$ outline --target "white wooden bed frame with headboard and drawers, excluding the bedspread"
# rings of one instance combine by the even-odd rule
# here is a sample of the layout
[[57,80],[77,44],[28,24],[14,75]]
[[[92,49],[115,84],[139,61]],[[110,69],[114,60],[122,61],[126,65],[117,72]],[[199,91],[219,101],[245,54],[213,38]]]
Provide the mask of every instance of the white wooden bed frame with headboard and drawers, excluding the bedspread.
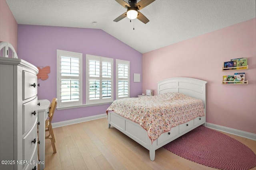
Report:
[[197,98],[204,103],[204,116],[196,117],[186,123],[172,127],[170,131],[162,133],[153,143],[148,133],[138,123],[127,119],[114,111],[108,111],[108,128],[112,125],[143,147],[149,150],[150,160],[155,159],[156,149],[177,139],[192,129],[206,122],[206,81],[195,78],[168,78],[158,82],[158,94],[166,92],[178,92],[187,96]]

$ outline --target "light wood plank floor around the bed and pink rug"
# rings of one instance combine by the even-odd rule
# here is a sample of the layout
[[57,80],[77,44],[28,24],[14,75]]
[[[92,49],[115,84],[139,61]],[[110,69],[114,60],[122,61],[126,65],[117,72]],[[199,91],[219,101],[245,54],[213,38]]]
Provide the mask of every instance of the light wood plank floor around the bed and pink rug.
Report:
[[[256,153],[256,141],[230,135]],[[47,135],[47,134],[46,134]],[[166,149],[149,151],[115,129],[106,118],[54,128],[57,153],[46,140],[45,170],[213,170]],[[256,167],[253,168],[256,170]]]

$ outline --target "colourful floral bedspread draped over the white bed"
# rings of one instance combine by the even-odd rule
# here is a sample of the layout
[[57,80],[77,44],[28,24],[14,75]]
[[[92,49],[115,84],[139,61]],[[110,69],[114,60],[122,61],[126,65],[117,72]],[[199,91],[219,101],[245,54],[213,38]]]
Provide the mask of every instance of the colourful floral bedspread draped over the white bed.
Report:
[[153,142],[162,133],[198,116],[204,116],[202,100],[181,93],[167,92],[144,98],[115,100],[106,110],[139,123]]

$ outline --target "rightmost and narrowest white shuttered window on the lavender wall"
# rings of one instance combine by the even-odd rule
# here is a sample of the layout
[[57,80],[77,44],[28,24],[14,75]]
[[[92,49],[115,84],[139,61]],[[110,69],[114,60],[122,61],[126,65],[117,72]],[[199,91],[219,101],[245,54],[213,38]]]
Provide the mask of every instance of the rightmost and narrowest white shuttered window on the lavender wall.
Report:
[[130,97],[130,61],[116,59],[116,100]]

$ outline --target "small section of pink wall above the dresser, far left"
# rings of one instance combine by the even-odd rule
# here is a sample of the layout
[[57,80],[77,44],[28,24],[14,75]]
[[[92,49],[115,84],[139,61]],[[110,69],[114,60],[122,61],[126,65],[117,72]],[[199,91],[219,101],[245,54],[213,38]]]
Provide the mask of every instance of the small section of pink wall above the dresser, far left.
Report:
[[[5,0],[0,0],[0,41],[12,44],[17,52],[18,24]],[[18,53],[18,52],[17,52]]]

